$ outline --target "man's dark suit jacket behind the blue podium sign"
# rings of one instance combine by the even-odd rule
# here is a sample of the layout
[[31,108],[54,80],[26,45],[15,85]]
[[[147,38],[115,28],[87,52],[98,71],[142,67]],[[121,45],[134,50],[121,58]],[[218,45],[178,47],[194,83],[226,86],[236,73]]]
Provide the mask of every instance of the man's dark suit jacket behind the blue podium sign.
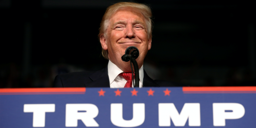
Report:
[[[144,70],[143,87],[186,86],[183,84],[153,80]],[[73,72],[57,75],[53,87],[110,87],[108,68],[99,71]]]

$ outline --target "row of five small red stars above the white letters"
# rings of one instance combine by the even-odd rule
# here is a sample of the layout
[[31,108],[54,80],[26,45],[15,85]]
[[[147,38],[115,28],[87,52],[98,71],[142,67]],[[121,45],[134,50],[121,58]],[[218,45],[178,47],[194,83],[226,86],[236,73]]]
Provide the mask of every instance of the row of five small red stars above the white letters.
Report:
[[[99,96],[104,96],[104,93],[106,91],[104,91],[103,89],[100,89],[100,91],[98,91]],[[119,89],[117,89],[116,91],[114,91],[116,93],[116,96],[121,96],[122,91],[120,91]],[[135,88],[131,91],[131,96],[137,96],[137,93],[139,91],[137,91]],[[148,92],[148,96],[154,96],[154,90],[152,90],[151,88],[147,91]],[[170,96],[171,90],[168,90],[168,88],[166,88],[166,90],[163,91],[164,92],[164,96]]]

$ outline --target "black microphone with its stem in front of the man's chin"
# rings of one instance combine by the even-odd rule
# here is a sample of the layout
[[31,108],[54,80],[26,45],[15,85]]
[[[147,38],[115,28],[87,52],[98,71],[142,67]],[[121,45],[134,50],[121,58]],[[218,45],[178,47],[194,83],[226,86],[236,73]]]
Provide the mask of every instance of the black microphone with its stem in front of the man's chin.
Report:
[[[128,62],[130,61],[131,65],[131,72],[132,72],[132,81],[133,81],[133,71],[132,71],[132,64],[134,65],[134,70],[135,70],[135,84],[134,87],[139,87],[139,67],[137,64],[137,61],[135,60],[136,58],[139,57],[139,50],[135,46],[129,46],[125,50],[125,54],[121,57],[122,61]],[[132,64],[131,64],[132,63]]]

